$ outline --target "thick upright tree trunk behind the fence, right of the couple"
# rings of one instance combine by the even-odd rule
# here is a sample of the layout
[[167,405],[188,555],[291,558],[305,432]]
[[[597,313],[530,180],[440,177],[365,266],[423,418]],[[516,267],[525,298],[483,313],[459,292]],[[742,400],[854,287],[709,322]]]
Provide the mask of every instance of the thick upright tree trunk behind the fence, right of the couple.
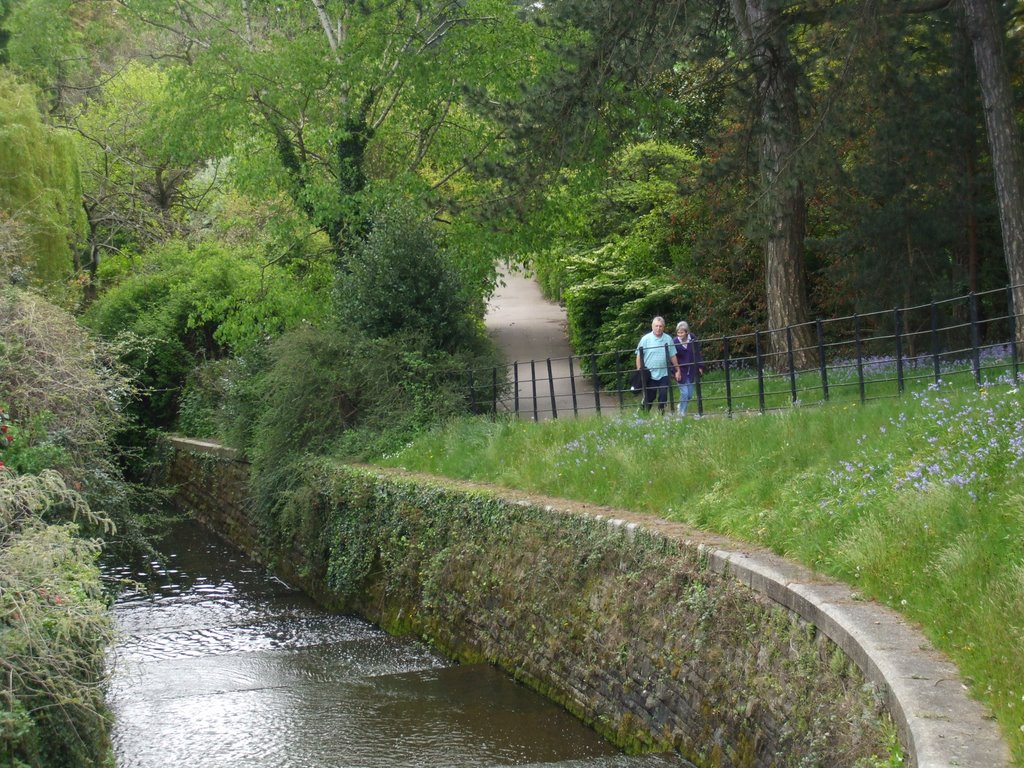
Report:
[[807,225],[803,185],[794,169],[800,141],[796,62],[786,25],[772,0],[732,0],[732,12],[757,79],[758,163],[765,217],[765,291],[772,331],[772,367],[787,360],[786,328],[793,329],[797,368],[815,365],[815,341],[808,323],[804,237]]

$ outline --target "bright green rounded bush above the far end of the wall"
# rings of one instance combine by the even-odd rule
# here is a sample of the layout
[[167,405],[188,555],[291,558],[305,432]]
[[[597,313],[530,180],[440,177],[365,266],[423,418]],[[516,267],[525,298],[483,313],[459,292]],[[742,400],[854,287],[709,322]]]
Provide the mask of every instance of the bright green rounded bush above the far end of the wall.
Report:
[[[325,310],[321,270],[266,265],[249,249],[216,241],[168,242],[145,254],[89,308],[84,321],[102,337],[130,340],[124,362],[135,372],[140,424],[175,425],[182,388],[197,366],[245,353]],[[301,273],[300,273],[301,272]],[[204,403],[194,387],[193,413]]]

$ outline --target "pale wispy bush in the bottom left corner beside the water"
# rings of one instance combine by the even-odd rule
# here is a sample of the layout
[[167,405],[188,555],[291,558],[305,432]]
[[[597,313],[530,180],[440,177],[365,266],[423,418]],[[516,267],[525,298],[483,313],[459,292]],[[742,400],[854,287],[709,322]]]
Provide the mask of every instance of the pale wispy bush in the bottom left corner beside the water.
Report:
[[56,472],[0,469],[0,762],[105,765],[99,547],[74,524],[44,523],[54,512],[103,522]]

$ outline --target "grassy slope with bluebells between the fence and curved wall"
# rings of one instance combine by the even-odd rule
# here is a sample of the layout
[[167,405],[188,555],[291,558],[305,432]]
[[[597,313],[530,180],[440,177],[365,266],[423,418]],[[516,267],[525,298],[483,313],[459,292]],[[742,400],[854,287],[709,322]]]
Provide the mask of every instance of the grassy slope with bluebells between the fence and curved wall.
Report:
[[1024,395],[680,420],[466,419],[381,463],[624,507],[768,547],[920,623],[1024,766]]

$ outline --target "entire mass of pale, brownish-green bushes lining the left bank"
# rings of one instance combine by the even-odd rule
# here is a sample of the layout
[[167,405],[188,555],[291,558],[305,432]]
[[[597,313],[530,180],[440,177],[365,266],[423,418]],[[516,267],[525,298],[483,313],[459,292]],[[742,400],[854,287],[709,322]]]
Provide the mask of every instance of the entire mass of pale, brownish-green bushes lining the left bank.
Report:
[[129,391],[114,351],[70,314],[0,292],[2,765],[110,763],[96,557],[138,535],[111,444]]

